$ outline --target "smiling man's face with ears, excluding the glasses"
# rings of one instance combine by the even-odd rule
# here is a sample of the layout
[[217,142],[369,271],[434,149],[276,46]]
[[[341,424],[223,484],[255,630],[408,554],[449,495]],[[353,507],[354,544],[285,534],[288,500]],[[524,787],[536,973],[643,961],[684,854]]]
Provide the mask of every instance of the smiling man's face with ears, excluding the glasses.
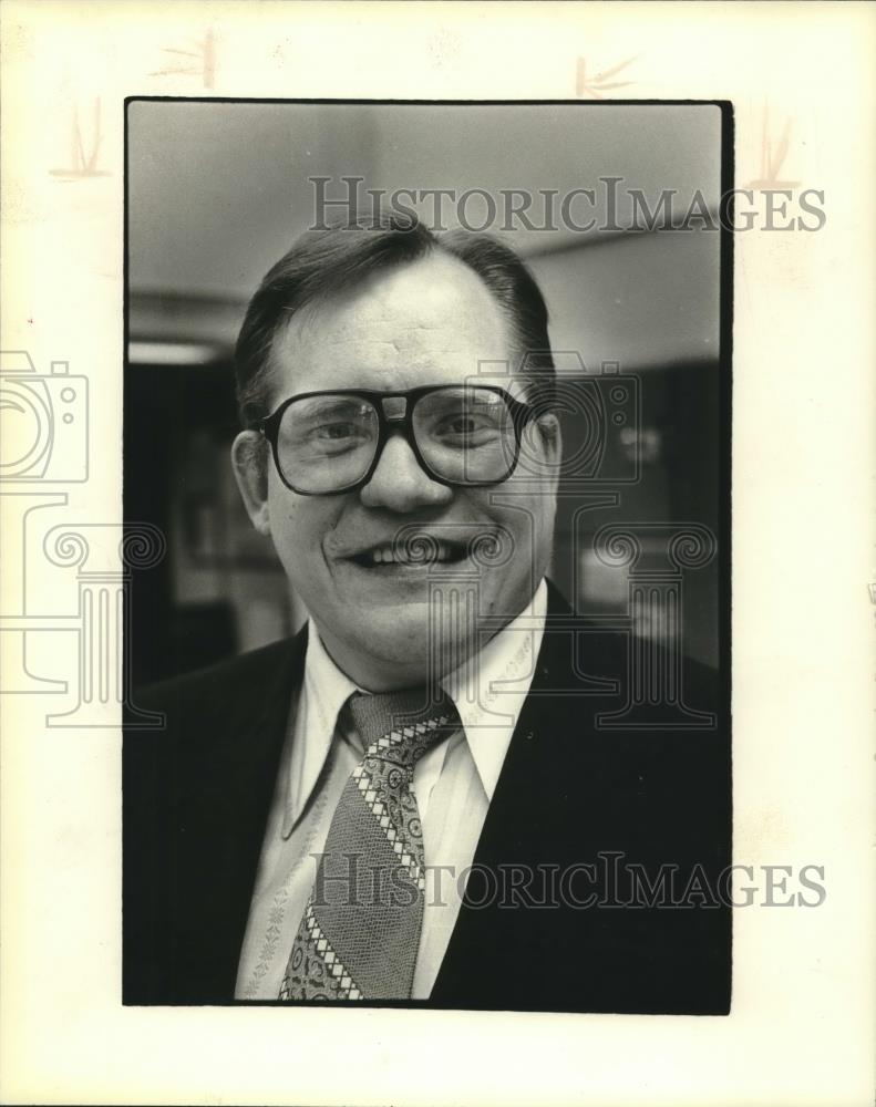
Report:
[[[298,312],[275,339],[271,410],[312,391],[473,383],[478,361],[511,363],[511,358],[509,323],[486,286],[455,258],[434,254]],[[523,399],[519,384],[507,376],[488,383]],[[272,461],[265,484],[246,448],[251,435],[245,432],[235,444],[250,517],[271,535],[336,663],[370,691],[442,675],[431,666],[453,668],[480,649],[485,639],[474,634],[474,624],[485,617],[513,619],[544,576],[558,434],[546,438],[530,425],[526,464],[502,484],[482,488],[433,480],[404,437],[393,434],[369,483],[333,496],[291,492]],[[533,480],[534,462],[546,463],[539,480]],[[373,551],[390,549],[400,532],[409,546],[419,532],[456,544],[483,536],[488,545],[495,538],[501,554],[493,566],[488,558],[471,556],[429,565],[391,561],[379,552],[375,560]],[[465,604],[454,596],[471,596],[473,589],[472,618],[457,618],[451,604],[463,611]],[[443,604],[440,619],[436,602]],[[436,656],[446,660],[436,662]]]

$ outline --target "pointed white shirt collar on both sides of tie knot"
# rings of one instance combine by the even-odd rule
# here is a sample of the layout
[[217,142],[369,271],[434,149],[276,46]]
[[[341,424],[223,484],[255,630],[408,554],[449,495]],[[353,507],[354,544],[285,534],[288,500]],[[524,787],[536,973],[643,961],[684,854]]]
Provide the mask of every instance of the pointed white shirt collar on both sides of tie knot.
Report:
[[[486,793],[493,792],[505,761],[512,734],[535,674],[547,612],[547,586],[543,580],[524,610],[487,642],[483,650],[441,681],[453,700],[463,724],[472,759]],[[299,717],[298,741],[289,763],[285,832],[291,830],[319,780],[326,764],[341,708],[353,692],[361,692],[341,672],[326,651],[310,620]],[[357,735],[344,734],[361,752]],[[445,744],[446,751],[446,744]],[[442,761],[443,764],[443,761]],[[440,772],[440,767],[439,767]]]

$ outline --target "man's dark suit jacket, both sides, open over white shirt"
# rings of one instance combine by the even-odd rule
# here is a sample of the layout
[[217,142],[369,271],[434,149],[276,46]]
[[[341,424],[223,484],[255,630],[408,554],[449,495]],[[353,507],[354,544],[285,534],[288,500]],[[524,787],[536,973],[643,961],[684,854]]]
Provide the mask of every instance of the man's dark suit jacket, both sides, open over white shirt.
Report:
[[[632,723],[607,718],[629,700],[633,642],[577,622],[550,589],[472,902],[429,1006],[729,1011],[726,697],[711,670],[688,661],[684,702],[714,713],[713,725],[691,728],[703,720],[671,705],[652,708],[647,728],[632,725],[642,723],[635,713]],[[125,1003],[234,1000],[305,644],[302,633],[168,682],[140,704],[165,712],[167,727],[125,735]]]

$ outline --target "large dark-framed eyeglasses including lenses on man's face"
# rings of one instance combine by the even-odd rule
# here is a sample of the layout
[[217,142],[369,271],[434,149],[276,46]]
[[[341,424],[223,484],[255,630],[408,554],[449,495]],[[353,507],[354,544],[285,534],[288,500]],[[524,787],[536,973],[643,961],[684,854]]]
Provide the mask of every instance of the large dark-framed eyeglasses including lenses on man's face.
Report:
[[302,496],[361,488],[390,435],[402,434],[440,484],[498,484],[514,472],[524,426],[535,417],[493,385],[436,385],[406,392],[307,392],[256,424],[282,483]]

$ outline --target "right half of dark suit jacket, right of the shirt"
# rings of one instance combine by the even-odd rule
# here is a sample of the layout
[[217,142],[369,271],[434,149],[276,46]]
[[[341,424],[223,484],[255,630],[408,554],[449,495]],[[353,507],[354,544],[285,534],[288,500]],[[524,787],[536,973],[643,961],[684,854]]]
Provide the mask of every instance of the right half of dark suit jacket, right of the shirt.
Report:
[[[611,858],[652,880],[677,870],[678,892],[695,866],[720,887],[731,861],[726,721],[699,732],[598,725],[599,713],[626,699],[627,642],[576,625],[555,592],[548,615],[431,1003],[725,1013],[726,906],[633,902],[629,871],[612,869]],[[708,673],[688,672],[692,702],[713,708]],[[527,890],[515,890],[513,870]]]

